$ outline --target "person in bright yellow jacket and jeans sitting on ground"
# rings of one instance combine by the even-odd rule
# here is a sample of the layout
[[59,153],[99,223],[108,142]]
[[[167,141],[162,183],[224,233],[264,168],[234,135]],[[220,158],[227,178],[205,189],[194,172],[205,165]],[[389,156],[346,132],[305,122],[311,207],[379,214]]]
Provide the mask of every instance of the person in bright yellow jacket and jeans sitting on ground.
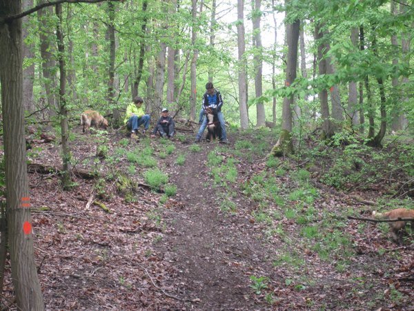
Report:
[[144,124],[143,134],[146,133],[150,126],[150,115],[144,113],[144,100],[137,96],[134,101],[126,107],[126,117],[124,123],[128,130],[131,131],[131,138],[137,138],[138,128]]

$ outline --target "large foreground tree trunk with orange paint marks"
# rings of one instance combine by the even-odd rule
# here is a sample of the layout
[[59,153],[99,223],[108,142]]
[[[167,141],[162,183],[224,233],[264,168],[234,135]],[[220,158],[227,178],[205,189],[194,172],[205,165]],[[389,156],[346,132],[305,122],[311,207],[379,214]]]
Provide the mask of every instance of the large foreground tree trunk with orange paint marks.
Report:
[[[0,18],[19,12],[20,0],[0,0]],[[12,283],[19,309],[44,310],[34,263],[32,218],[28,208],[22,44],[21,19],[0,23],[1,106]]]

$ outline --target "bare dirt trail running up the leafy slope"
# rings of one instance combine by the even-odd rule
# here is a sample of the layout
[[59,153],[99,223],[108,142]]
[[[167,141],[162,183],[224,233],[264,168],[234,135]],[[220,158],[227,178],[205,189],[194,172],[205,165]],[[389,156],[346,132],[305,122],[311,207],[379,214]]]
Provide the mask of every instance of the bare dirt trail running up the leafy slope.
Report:
[[[168,234],[162,243],[164,259],[178,271],[177,283],[187,308],[197,310],[264,310],[249,287],[255,266],[268,265],[248,219],[220,211],[206,167],[215,144],[189,152],[181,171],[172,176],[181,209],[166,211]],[[176,277],[177,277],[176,276]]]

